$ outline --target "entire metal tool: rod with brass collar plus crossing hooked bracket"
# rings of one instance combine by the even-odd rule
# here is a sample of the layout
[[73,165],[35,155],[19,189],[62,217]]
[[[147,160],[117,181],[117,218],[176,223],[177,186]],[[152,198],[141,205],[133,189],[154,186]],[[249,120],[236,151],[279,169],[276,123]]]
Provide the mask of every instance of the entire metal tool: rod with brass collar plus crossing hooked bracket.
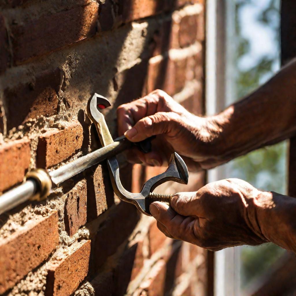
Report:
[[110,102],[98,94],[94,94],[88,104],[89,117],[95,123],[103,147],[66,165],[62,165],[56,170],[41,168],[30,170],[22,184],[0,196],[0,215],[27,200],[41,201],[46,199],[52,192],[52,186],[66,181],[105,159],[108,160],[113,189],[119,198],[133,203],[146,215],[149,215],[149,204],[153,201],[170,204],[171,195],[154,194],[152,191],[165,181],[173,180],[186,184],[188,182],[188,170],[184,161],[177,153],[174,153],[165,173],[148,180],[140,193],[128,192],[120,182],[119,167],[115,155],[131,148],[133,145],[138,147],[140,151],[147,153],[151,150],[151,138],[132,143],[123,136],[113,141],[104,116],[100,112],[100,110],[109,106],[111,106]]

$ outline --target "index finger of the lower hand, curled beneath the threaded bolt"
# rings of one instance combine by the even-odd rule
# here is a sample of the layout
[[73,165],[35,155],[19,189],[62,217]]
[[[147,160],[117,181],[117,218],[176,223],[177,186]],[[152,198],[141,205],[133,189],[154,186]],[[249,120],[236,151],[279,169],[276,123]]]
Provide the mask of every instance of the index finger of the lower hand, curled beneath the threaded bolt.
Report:
[[195,218],[178,215],[171,207],[162,202],[153,202],[149,209],[153,217],[165,226],[172,237],[187,242],[196,240],[194,236]]

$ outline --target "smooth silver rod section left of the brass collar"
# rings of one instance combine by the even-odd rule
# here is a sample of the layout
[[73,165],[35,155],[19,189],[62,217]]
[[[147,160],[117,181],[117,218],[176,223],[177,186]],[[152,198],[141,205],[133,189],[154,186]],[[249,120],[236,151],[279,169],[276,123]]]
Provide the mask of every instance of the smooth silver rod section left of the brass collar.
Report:
[[30,199],[37,190],[36,181],[30,179],[0,196],[0,215]]

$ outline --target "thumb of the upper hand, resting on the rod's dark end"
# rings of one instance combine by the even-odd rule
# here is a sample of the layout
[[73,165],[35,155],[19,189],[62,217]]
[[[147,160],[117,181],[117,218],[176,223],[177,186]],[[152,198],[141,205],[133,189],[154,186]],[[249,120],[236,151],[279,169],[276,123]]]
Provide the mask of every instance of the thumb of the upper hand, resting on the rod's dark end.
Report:
[[169,126],[175,121],[173,112],[157,112],[140,119],[133,128],[125,132],[125,136],[132,142],[143,141],[151,136],[166,134]]

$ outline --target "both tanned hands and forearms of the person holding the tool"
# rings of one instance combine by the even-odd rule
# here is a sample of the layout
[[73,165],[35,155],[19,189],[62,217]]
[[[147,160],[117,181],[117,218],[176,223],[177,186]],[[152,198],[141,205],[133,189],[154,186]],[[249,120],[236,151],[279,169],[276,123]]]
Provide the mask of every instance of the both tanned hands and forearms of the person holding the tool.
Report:
[[[165,165],[178,152],[189,170],[209,169],[296,134],[296,59],[218,115],[189,113],[157,90],[118,107],[118,131],[133,142],[156,135],[152,152],[130,151],[133,163]],[[296,199],[226,179],[177,193],[171,207],[150,212],[168,237],[209,250],[273,242],[296,252]]]

